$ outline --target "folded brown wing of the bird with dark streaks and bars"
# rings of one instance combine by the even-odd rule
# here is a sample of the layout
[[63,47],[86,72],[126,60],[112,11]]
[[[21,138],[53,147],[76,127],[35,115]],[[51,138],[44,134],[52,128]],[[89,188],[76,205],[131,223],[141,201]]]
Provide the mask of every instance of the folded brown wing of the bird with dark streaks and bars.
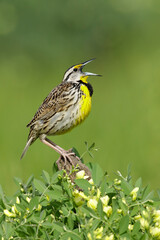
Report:
[[71,82],[64,82],[54,88],[44,99],[43,103],[38,108],[33,119],[28,123],[27,127],[32,126],[37,120],[47,120],[54,113],[63,111],[67,104],[66,98],[64,98],[64,93],[69,93],[72,87],[73,84]]

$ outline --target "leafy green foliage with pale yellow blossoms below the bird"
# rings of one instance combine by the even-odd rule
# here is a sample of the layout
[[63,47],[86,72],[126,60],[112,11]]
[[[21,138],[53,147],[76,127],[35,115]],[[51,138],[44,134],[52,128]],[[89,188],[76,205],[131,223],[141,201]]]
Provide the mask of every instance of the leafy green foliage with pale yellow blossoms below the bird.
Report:
[[[89,163],[93,179],[65,171],[42,171],[41,180],[15,178],[19,190],[7,197],[0,187],[1,239],[160,239],[160,197],[139,178],[118,172],[111,181]],[[74,170],[75,171],[75,170]]]

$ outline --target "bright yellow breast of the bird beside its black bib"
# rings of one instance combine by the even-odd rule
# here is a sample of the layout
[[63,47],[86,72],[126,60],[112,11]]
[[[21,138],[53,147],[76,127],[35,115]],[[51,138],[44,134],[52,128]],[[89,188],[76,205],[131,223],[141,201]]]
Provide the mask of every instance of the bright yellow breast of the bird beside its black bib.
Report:
[[81,86],[81,90],[83,95],[81,96],[80,100],[80,115],[78,119],[79,123],[82,122],[91,111],[91,96],[89,90],[85,85]]

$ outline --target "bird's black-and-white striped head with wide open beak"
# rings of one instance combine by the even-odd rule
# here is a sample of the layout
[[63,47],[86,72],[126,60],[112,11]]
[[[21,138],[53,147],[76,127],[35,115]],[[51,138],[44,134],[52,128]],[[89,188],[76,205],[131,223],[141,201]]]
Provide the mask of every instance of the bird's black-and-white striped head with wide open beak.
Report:
[[83,67],[93,61],[94,59],[91,59],[91,60],[88,60],[84,63],[80,63],[80,64],[77,64],[77,65],[74,65],[72,67],[70,67],[64,74],[64,77],[63,77],[63,82],[79,82],[79,81],[82,81],[84,83],[87,83],[87,78],[88,76],[101,76],[99,74],[96,74],[96,73],[90,73],[90,72],[83,72]]

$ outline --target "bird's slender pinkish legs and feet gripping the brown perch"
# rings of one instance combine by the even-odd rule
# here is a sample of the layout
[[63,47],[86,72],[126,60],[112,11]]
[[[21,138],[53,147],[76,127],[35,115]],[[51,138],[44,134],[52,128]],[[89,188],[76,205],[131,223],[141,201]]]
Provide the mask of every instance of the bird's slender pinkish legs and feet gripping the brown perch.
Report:
[[70,153],[64,150],[63,148],[59,147],[57,144],[53,143],[50,139],[48,138],[40,138],[41,142],[46,144],[47,146],[51,147],[54,149],[56,152],[58,152],[60,155],[63,156],[65,165],[67,165],[67,159],[70,162],[71,165],[73,164],[72,158],[70,156],[75,156],[75,153]]

